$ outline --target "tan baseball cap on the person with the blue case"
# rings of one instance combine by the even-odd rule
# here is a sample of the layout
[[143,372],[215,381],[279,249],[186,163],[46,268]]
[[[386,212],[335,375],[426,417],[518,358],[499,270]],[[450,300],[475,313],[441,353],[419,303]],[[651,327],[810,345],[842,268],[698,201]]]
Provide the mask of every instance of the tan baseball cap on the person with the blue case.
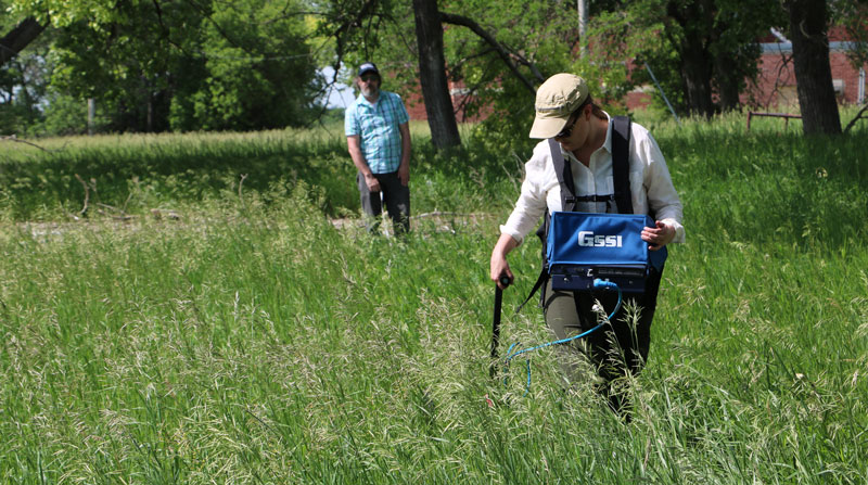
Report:
[[588,84],[574,74],[556,74],[536,91],[536,118],[531,138],[553,138],[588,98]]

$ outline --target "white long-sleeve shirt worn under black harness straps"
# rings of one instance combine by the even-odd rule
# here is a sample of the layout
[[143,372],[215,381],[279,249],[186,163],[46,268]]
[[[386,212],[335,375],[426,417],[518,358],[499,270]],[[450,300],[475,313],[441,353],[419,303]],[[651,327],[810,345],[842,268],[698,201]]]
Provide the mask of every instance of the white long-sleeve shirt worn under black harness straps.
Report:
[[[672,183],[663,153],[648,129],[636,123],[631,123],[630,126],[629,179],[633,212],[649,214],[650,209],[653,209],[658,220],[675,228],[675,238],[672,242],[684,242],[681,201]],[[605,196],[615,192],[612,176],[611,117],[605,142],[591,154],[587,167],[578,162],[571,152],[563,151],[563,148],[561,148],[561,153],[563,153],[564,161],[570,163],[577,197],[583,195]],[[507,222],[500,226],[500,232],[510,234],[521,244],[524,237],[537,226],[546,207],[549,212],[562,209],[561,187],[558,183],[558,175],[554,173],[549,143],[548,140],[542,140],[534,148],[533,156],[525,164],[521,195]],[[587,213],[618,212],[614,201],[576,202],[575,209]]]

